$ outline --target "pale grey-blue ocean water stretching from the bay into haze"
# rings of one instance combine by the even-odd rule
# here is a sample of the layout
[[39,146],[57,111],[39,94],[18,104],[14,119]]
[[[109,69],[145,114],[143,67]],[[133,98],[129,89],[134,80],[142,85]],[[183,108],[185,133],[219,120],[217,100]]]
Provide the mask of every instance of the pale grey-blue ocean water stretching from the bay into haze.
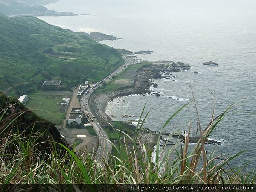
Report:
[[[39,17],[47,23],[78,32],[102,32],[122,38],[103,41],[115,48],[133,52],[152,50],[139,58],[181,61],[191,65],[189,72],[175,73],[174,79],[157,80],[162,92],[156,96],[127,96],[109,102],[108,114],[117,120],[135,120],[147,102],[151,110],[145,127],[159,131],[165,121],[192,100],[192,91],[204,128],[211,120],[214,97],[216,115],[233,102],[236,112],[227,114],[212,133],[220,146],[208,145],[217,153],[246,153],[232,165],[250,163],[256,167],[256,2],[254,0],[61,0],[46,6],[56,11],[88,13],[89,16]],[[218,66],[204,66],[213,61]],[[195,74],[198,71],[200,74]],[[211,93],[212,92],[212,93]],[[172,98],[170,98],[172,97]],[[177,98],[179,98],[177,100]],[[254,114],[253,114],[254,113]],[[120,115],[134,115],[122,118]],[[165,131],[186,131],[197,116],[192,103],[181,111]]]

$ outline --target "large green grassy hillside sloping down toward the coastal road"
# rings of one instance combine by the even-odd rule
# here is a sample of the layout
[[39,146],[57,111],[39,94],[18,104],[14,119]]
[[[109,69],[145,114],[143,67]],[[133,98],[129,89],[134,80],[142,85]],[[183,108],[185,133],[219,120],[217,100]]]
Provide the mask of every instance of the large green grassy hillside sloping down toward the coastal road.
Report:
[[0,15],[0,90],[35,92],[44,79],[61,79],[62,88],[97,81],[124,63],[112,47],[86,34],[52,26],[35,17]]

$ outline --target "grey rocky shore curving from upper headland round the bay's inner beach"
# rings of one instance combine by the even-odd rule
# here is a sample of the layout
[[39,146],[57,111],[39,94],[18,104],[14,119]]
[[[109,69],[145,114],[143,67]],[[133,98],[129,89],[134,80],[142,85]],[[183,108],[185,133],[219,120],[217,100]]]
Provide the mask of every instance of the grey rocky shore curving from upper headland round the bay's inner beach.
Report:
[[154,79],[166,78],[165,74],[171,77],[172,72],[181,72],[183,70],[190,70],[190,66],[182,62],[153,61],[150,65],[145,65],[140,70],[137,70],[132,86],[90,96],[89,103],[93,113],[98,116],[102,122],[111,121],[111,117],[105,113],[108,102],[118,97],[129,95],[145,96],[147,94],[154,94],[157,96],[159,93],[150,90],[150,87],[157,86],[154,83]]

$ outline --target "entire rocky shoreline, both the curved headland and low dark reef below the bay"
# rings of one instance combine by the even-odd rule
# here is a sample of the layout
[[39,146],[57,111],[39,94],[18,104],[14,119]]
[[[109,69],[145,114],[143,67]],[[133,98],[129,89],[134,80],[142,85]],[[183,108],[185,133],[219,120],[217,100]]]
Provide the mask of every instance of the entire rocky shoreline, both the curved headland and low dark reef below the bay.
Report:
[[[173,76],[172,72],[181,72],[183,70],[190,70],[190,66],[188,64],[182,62],[174,62],[174,61],[154,61],[150,65],[143,66],[140,70],[136,71],[136,75],[134,77],[134,84],[128,87],[122,87],[116,91],[111,92],[102,92],[99,94],[93,94],[90,96],[90,105],[93,110],[95,116],[99,118],[101,122],[105,121],[112,121],[111,117],[115,118],[114,116],[108,116],[105,110],[108,105],[108,102],[122,96],[129,96],[129,95],[155,95],[160,96],[161,93],[153,92],[150,90],[150,87],[157,87],[158,85],[154,83],[154,79],[159,78],[175,78],[177,76]],[[178,98],[177,98],[178,99]],[[120,114],[122,118],[129,118],[133,117],[132,115],[128,114]],[[127,124],[132,124],[137,121],[124,121]],[[148,128],[143,128],[143,133],[140,134],[140,137],[144,137],[146,135],[147,140],[150,140],[151,143],[156,144],[160,133],[158,131],[152,131]],[[161,133],[161,139],[163,137],[169,136],[171,133],[163,132]],[[156,140],[155,140],[156,139]],[[192,137],[189,138],[189,143],[197,143],[200,140],[199,137]],[[166,143],[167,142],[167,143]],[[180,140],[182,142],[182,138]],[[175,142],[172,141],[164,141],[161,145],[174,145]],[[215,140],[207,140],[205,144],[209,145],[219,145],[221,142]]]

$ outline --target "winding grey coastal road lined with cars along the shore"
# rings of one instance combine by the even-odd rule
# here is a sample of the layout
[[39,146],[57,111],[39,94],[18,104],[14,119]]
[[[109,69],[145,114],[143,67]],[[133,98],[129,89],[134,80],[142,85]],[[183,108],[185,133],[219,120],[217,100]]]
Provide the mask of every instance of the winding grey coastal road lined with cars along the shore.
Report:
[[[124,70],[125,66],[131,65],[134,63],[133,60],[129,57],[123,56],[123,58],[125,59],[125,64],[123,64],[118,69],[116,69],[107,78],[102,79],[103,81],[105,81],[106,83],[109,83],[111,81],[113,75],[116,75],[116,73],[118,74],[118,73],[122,72],[122,70]],[[90,85],[90,87],[92,87],[92,85]],[[99,84],[99,86],[95,87],[95,89],[91,89],[87,95],[83,94],[80,98],[80,105],[81,105],[81,108],[82,108],[84,114],[86,114],[86,116],[90,115],[91,118],[93,118],[93,116],[95,116],[95,115],[93,114],[93,111],[90,109],[90,105],[88,104],[89,98],[92,95],[93,91],[95,91],[99,87],[102,87],[102,83]],[[86,107],[86,109],[84,108],[84,106]],[[97,162],[102,163],[102,166],[104,166],[102,160],[104,159],[105,161],[108,161],[108,158],[109,158],[108,154],[111,154],[112,145],[109,142],[108,134],[105,133],[104,129],[102,128],[102,125],[100,125],[99,119],[97,118],[97,116],[95,116],[93,118],[93,120],[91,120],[90,117],[89,118],[87,117],[87,119],[90,122],[90,124],[92,125],[92,127],[93,127],[94,131],[96,132],[96,134],[98,135],[98,139],[99,139],[99,147],[98,147],[98,151],[96,152],[95,160]]]

